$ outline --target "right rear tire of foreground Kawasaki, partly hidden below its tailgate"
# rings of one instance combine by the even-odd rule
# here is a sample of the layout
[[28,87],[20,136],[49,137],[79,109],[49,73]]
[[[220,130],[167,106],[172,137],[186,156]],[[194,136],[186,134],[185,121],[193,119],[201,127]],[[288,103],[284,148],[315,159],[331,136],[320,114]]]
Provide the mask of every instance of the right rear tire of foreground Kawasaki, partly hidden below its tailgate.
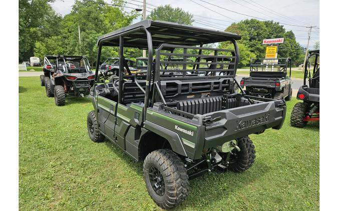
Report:
[[244,136],[237,139],[237,146],[240,151],[236,149],[231,151],[229,170],[242,172],[251,167],[255,161],[255,145],[248,136]]

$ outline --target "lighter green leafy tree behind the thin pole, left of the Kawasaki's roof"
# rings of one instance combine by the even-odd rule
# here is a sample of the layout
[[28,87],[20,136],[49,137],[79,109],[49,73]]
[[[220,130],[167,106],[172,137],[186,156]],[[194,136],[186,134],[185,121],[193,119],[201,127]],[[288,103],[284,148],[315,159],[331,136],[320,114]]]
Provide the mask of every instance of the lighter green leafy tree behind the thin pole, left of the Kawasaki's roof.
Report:
[[[118,5],[122,3],[118,0],[113,2]],[[39,56],[43,54],[86,55],[93,65],[97,56],[98,37],[131,24],[137,15],[136,11],[127,13],[121,7],[106,4],[104,0],[76,0],[72,11],[61,21],[61,33],[37,42],[35,53]],[[81,45],[78,26],[81,30]],[[117,47],[104,47],[101,59],[116,55],[118,55]]]

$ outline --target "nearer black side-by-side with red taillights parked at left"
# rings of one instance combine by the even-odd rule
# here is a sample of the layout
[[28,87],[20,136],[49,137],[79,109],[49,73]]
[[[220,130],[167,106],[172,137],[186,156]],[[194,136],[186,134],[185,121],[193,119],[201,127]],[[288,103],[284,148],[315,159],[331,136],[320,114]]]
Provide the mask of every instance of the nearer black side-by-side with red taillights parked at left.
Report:
[[[55,58],[55,63],[50,59]],[[55,104],[65,105],[66,96],[85,96],[94,84],[94,73],[85,56],[45,56],[46,95],[55,97]]]

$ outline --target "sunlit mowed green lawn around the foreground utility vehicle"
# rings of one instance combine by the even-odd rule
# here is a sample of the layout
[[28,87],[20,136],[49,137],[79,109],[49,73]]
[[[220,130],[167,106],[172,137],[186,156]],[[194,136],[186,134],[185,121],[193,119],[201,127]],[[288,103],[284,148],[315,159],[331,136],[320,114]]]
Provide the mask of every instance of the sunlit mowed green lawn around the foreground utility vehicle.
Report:
[[[94,143],[87,98],[58,107],[39,77],[20,77],[19,204],[21,210],[160,210],[148,195],[142,162],[110,142]],[[282,129],[250,135],[253,166],[212,172],[190,181],[177,210],[318,210],[319,123],[290,126],[296,99],[287,102]]]

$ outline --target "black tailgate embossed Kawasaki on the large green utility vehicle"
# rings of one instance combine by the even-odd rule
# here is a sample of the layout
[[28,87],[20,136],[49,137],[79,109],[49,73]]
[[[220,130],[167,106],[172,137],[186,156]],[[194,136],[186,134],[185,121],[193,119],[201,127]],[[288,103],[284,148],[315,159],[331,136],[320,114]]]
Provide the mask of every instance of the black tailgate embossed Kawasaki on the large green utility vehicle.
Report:
[[279,129],[285,119],[284,100],[259,102],[207,113],[205,119],[204,148],[221,145],[267,128]]

